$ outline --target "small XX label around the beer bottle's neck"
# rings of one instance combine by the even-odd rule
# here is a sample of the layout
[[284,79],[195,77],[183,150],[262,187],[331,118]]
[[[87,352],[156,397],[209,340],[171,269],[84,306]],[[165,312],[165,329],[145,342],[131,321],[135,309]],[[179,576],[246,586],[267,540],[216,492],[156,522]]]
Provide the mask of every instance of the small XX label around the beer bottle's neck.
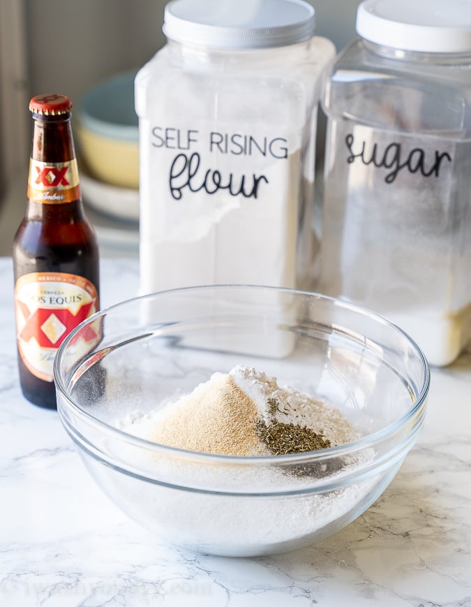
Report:
[[77,159],[41,162],[29,159],[29,200],[47,205],[71,203],[80,198]]

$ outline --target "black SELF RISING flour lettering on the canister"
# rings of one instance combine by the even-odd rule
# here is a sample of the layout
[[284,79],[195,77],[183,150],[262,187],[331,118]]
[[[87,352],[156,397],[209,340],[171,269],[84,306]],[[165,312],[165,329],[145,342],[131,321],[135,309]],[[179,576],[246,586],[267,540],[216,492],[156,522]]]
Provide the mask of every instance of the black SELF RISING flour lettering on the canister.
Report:
[[202,133],[193,129],[175,129],[155,126],[151,131],[151,145],[157,148],[175,149],[170,165],[169,188],[174,200],[181,200],[184,191],[205,191],[215,194],[225,190],[231,196],[257,198],[264,184],[269,184],[266,175],[232,171],[223,174],[221,170],[204,166],[204,156],[263,156],[275,160],[288,157],[287,140],[283,137],[257,137],[244,133]]

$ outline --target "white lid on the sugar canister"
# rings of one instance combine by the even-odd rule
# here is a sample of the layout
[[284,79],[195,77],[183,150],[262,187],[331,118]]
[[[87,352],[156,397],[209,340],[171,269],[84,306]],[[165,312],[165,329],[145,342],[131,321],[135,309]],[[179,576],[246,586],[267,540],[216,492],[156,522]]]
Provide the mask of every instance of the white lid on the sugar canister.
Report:
[[364,0],[357,34],[365,40],[418,52],[470,52],[470,0]]

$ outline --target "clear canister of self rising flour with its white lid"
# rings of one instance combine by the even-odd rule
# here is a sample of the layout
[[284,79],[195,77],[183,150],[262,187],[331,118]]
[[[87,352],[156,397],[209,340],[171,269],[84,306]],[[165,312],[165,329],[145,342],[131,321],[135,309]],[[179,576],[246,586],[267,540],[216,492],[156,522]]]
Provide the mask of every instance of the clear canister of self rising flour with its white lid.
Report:
[[334,45],[299,0],[165,7],[167,44],[135,80],[142,293],[306,286],[320,73]]

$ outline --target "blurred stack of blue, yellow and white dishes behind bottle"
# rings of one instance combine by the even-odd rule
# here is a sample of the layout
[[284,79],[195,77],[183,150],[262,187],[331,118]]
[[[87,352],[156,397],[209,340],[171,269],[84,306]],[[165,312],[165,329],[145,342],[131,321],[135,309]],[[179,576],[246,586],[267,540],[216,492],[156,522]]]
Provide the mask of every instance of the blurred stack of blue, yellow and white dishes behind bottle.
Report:
[[[92,87],[75,108],[80,183],[100,247],[139,247],[139,129],[134,110],[135,71]],[[105,251],[107,252],[107,251]]]

